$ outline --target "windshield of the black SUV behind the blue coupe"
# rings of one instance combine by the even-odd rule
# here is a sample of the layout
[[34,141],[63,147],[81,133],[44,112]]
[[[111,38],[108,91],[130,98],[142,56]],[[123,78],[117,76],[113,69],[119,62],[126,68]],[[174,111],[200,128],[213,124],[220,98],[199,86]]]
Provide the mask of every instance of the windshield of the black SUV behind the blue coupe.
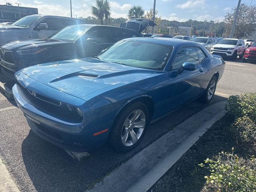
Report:
[[91,26],[68,26],[50,37],[62,41],[74,42]]

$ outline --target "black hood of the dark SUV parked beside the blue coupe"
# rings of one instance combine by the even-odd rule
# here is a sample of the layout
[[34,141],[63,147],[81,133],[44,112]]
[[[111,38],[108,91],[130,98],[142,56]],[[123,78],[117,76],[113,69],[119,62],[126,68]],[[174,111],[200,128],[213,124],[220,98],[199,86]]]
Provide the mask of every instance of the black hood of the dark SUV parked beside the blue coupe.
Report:
[[10,42],[4,46],[3,48],[10,49],[12,50],[28,50],[28,49],[36,49],[40,47],[48,47],[48,46],[54,46],[56,44],[64,44],[68,42],[63,42],[63,41],[48,41],[46,39],[32,39],[32,40],[22,40],[22,41],[15,41],[15,42]]

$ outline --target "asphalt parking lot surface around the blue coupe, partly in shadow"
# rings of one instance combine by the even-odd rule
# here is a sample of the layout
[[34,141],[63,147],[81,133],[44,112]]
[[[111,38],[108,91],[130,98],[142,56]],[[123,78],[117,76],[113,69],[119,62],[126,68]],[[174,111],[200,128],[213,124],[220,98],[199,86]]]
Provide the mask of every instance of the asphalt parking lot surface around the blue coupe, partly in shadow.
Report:
[[150,124],[140,145],[131,152],[118,154],[105,144],[88,151],[91,158],[82,164],[33,134],[14,100],[0,94],[0,157],[22,191],[83,191],[206,106],[225,101],[232,94],[255,92],[255,82],[255,64],[226,61],[210,104],[196,100]]

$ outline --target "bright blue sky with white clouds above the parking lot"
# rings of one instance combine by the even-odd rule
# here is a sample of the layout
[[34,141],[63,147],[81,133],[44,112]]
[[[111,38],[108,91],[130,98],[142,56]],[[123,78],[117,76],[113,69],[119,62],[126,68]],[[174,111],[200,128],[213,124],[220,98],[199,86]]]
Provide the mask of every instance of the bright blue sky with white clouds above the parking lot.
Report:
[[[21,3],[20,6],[38,8],[42,15],[70,16],[70,0],[0,0],[0,4],[6,2]],[[111,6],[111,17],[127,18],[129,8],[140,5],[143,9],[153,8],[154,0],[109,0]],[[237,6],[238,0],[156,0],[156,10],[162,19],[186,21],[189,19],[219,20],[230,12],[231,8]],[[241,3],[256,4],[256,0],[242,0]],[[91,6],[95,0],[72,0],[73,17],[92,16]]]

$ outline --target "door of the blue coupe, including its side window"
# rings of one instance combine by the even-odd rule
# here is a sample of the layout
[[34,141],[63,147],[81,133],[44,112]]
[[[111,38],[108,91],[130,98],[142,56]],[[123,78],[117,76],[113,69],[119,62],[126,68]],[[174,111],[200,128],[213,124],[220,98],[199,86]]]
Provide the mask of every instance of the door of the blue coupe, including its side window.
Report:
[[[194,71],[183,71],[178,74],[184,62],[196,65]],[[170,97],[174,99],[171,106],[176,108],[200,96],[203,92],[202,83],[205,70],[198,59],[194,46],[182,47],[178,50],[169,72]]]

